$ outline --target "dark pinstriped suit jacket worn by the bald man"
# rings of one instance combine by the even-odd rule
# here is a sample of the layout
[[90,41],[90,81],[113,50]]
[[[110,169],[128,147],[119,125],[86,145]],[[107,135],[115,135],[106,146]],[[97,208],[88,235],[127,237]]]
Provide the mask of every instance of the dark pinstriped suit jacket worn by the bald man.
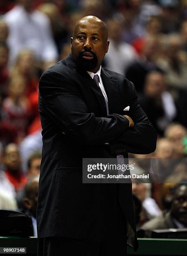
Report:
[[[155,150],[157,136],[137,102],[133,84],[106,69],[102,69],[101,76],[108,116],[100,89],[87,72],[76,69],[71,54],[40,79],[43,149],[38,237],[100,240],[115,236],[111,230],[116,228],[119,200],[127,219],[127,242],[136,249],[131,184],[82,184],[82,158],[115,158],[121,151],[125,157],[127,152],[148,154]],[[133,128],[123,117],[128,105]]]

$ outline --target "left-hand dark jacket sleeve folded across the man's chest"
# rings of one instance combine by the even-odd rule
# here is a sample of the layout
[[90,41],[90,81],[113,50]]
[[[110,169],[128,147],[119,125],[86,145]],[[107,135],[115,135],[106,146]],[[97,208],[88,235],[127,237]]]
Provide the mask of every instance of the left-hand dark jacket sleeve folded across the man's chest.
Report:
[[45,72],[39,83],[40,115],[54,122],[65,136],[81,144],[103,145],[128,129],[129,121],[122,115],[103,118],[90,113],[72,83],[69,77],[53,71]]

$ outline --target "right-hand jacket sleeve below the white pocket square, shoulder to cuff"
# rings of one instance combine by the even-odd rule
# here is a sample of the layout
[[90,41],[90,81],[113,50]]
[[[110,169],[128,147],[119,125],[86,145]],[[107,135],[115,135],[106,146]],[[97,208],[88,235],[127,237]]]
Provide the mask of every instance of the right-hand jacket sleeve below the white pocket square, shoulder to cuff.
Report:
[[132,118],[135,126],[128,128],[110,143],[111,151],[112,154],[116,154],[117,150],[122,148],[122,152],[150,154],[156,148],[157,132],[138,103],[134,85],[130,81],[128,83],[131,87],[131,97],[130,111],[127,115]]

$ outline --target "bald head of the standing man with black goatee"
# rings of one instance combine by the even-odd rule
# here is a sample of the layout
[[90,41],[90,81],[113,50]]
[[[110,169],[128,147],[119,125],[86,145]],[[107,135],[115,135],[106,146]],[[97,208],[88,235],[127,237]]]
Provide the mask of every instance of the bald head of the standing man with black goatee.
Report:
[[77,21],[71,38],[71,51],[78,67],[97,72],[108,51],[107,27],[95,16],[86,16]]

